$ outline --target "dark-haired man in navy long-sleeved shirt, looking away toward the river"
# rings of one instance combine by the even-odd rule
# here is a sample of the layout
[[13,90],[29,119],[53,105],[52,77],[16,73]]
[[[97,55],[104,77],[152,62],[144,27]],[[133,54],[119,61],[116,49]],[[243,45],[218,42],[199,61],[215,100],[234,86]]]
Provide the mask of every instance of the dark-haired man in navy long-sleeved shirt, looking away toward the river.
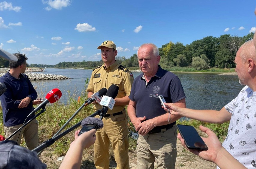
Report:
[[[26,117],[33,111],[33,104],[42,102],[40,99],[36,99],[37,93],[33,85],[28,76],[23,74],[26,70],[26,60],[28,58],[20,53],[14,53],[14,56],[18,58],[18,61],[10,61],[10,71],[0,78],[0,82],[6,86],[6,92],[0,96],[5,137],[9,137],[23,125]],[[30,116],[26,122],[32,117]],[[38,122],[36,119],[22,128],[20,135],[18,132],[10,140],[17,141],[20,144],[22,135],[30,150],[38,146]]]

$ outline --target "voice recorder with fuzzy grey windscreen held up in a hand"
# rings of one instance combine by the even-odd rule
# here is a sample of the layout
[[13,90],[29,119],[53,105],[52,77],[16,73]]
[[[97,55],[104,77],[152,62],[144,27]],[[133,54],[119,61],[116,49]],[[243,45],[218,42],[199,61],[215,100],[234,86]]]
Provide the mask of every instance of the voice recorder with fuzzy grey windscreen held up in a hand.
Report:
[[95,117],[87,117],[81,122],[81,126],[82,126],[82,129],[78,133],[78,136],[93,128],[95,128],[96,130],[102,128],[103,122],[101,119],[98,119]]

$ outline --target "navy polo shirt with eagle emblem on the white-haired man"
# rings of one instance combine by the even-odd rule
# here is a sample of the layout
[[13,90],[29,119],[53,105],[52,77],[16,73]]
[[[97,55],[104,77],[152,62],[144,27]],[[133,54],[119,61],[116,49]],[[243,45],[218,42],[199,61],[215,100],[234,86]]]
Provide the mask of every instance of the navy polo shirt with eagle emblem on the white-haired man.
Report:
[[179,78],[172,72],[162,69],[160,65],[158,67],[157,74],[149,80],[147,86],[142,78],[143,73],[134,79],[129,98],[136,102],[137,117],[146,116],[146,119],[152,119],[165,114],[159,95],[163,95],[167,103],[175,103],[186,98]]

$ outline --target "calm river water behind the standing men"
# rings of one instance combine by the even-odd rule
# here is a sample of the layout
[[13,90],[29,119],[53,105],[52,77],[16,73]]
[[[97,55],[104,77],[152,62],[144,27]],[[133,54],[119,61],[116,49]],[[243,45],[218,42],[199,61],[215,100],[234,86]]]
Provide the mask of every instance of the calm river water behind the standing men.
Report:
[[[41,73],[41,72],[38,72]],[[87,77],[90,79],[92,70],[46,68],[44,74],[64,75],[69,80],[36,80],[31,81],[38,95],[44,97],[53,88],[62,92],[59,101],[67,103],[69,97],[77,98]],[[218,75],[209,73],[174,72],[181,80],[187,96],[187,108],[220,110],[235,98],[243,88],[238,82],[237,75]],[[141,72],[133,72],[137,77]]]

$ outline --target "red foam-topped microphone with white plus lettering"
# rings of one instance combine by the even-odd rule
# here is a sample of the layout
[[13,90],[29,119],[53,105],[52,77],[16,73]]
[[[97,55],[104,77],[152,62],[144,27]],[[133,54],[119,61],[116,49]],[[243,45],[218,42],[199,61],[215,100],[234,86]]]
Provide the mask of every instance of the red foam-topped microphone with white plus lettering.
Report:
[[54,102],[58,101],[61,96],[62,96],[62,93],[59,89],[57,89],[57,88],[52,89],[45,96],[46,99],[38,107],[36,107],[31,113],[29,113],[28,116],[31,116],[32,114],[34,114],[41,108],[44,108],[47,103],[49,103],[49,102],[54,103]]

